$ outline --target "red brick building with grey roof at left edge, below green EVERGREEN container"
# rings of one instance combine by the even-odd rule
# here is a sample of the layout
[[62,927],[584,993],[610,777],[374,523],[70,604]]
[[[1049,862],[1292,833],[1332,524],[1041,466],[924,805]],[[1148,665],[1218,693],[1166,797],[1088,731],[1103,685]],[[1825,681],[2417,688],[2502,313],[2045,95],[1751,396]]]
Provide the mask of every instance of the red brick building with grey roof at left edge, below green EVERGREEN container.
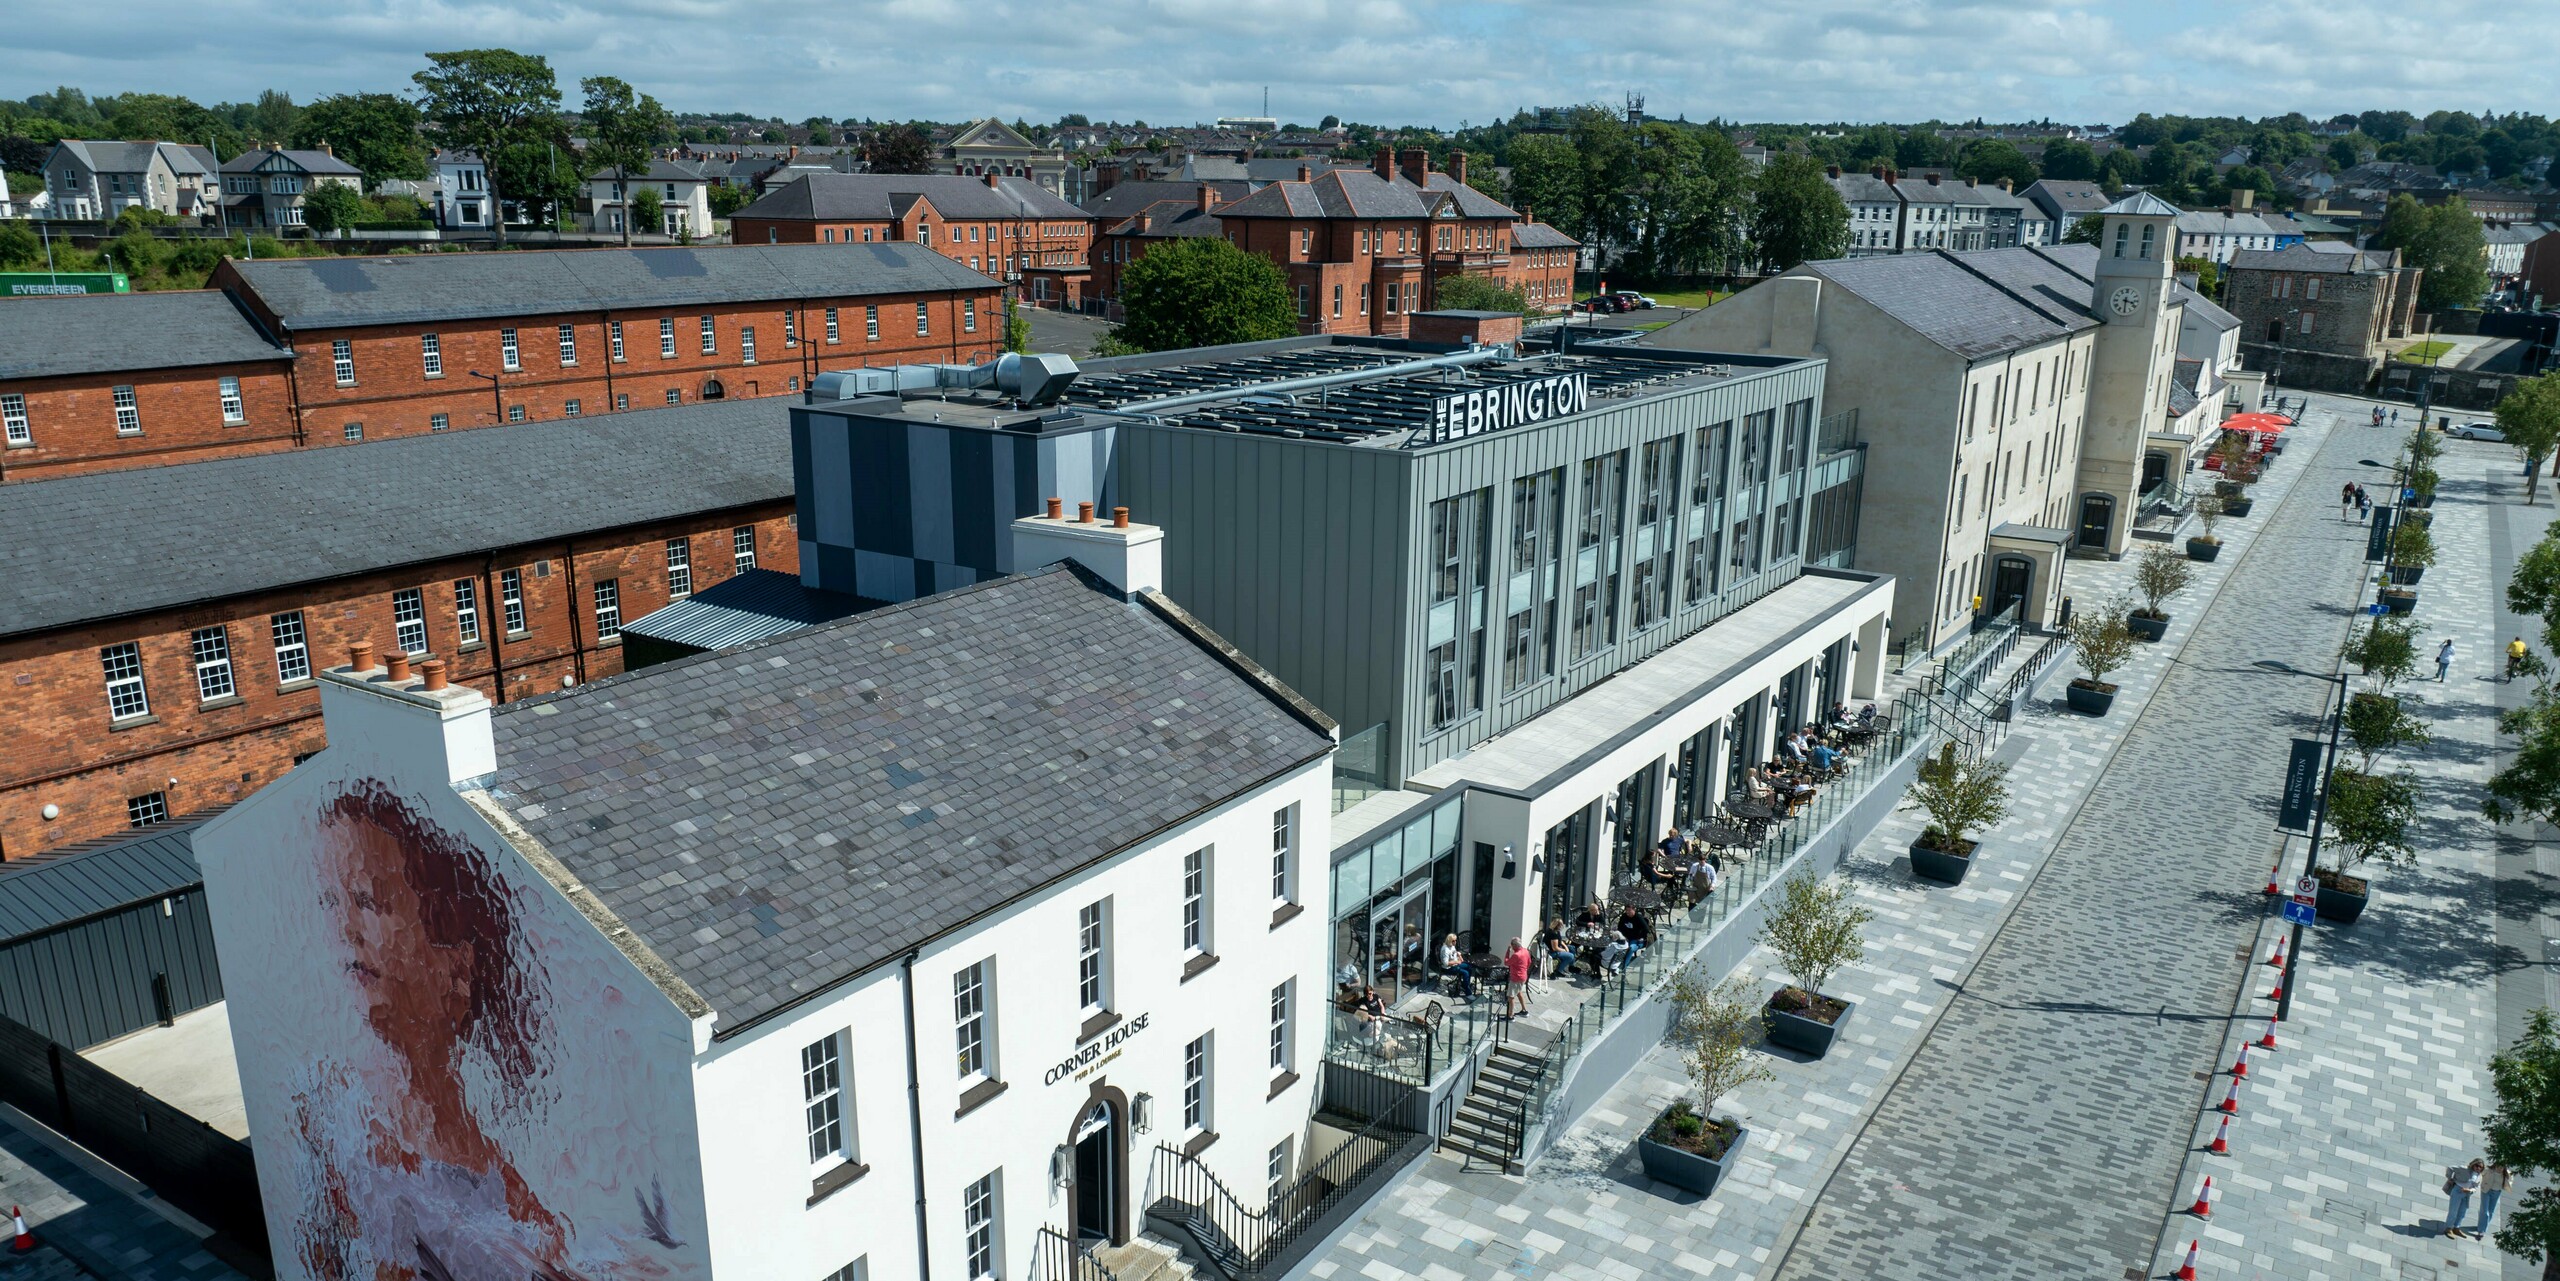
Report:
[[205,292],[0,305],[0,479],[292,446],[292,351]]

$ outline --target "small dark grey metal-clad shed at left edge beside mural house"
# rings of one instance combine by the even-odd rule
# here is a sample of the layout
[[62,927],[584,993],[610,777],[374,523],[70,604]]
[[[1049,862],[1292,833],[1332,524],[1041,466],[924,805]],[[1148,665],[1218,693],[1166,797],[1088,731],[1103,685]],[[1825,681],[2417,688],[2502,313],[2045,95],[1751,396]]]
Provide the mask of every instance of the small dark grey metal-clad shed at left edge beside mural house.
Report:
[[90,1048],[220,1002],[205,817],[0,863],[0,1017]]

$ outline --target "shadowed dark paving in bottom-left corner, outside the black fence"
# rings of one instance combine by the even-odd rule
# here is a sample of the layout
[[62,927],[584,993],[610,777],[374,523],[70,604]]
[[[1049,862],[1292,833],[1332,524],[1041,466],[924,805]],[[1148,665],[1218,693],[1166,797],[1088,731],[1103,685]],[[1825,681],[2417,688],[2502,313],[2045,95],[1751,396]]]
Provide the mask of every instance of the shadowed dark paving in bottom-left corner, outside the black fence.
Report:
[[[205,1245],[148,1207],[0,1120],[0,1209],[26,1209],[41,1250],[0,1281],[243,1281]],[[5,1225],[5,1222],[0,1222]],[[77,1266],[74,1266],[77,1263]]]

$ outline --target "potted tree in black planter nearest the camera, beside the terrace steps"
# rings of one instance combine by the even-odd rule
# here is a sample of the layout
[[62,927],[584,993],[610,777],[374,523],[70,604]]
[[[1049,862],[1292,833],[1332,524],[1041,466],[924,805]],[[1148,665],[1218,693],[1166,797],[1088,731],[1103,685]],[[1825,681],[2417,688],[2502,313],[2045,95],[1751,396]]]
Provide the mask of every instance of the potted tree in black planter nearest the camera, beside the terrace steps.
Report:
[[1669,997],[1672,1043],[1679,1045],[1679,1066],[1690,1068],[1697,1097],[1672,1099],[1636,1138],[1636,1158],[1644,1161],[1646,1179],[1705,1196],[1751,1138],[1743,1122],[1715,1114],[1715,1099],[1774,1076],[1751,1053],[1754,1002],[1743,979],[1708,984],[1697,971],[1679,971]]

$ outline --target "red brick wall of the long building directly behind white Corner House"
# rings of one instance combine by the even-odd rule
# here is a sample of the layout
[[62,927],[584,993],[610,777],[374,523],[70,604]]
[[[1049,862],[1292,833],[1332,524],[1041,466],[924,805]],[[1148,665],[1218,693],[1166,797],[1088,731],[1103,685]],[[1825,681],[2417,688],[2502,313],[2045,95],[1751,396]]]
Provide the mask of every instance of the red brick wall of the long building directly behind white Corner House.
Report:
[[[282,612],[302,615],[305,653],[320,669],[343,664],[348,640],[392,648],[399,635],[394,592],[420,589],[428,651],[448,661],[456,681],[504,702],[622,671],[620,646],[596,638],[596,582],[614,579],[622,620],[637,620],[671,600],[668,538],[686,541],[699,592],[735,574],[740,525],[755,530],[758,566],[799,571],[791,502],[783,500],[0,640],[13,738],[0,766],[0,856],[118,833],[125,802],[151,792],[164,794],[169,815],[236,802],[292,769],[297,756],[320,751],[317,689],[284,684],[276,666],[274,617]],[[520,571],[525,594],[525,630],[515,635],[504,625],[509,569]],[[479,643],[461,640],[456,579],[474,584]],[[200,697],[197,628],[225,630],[230,697]],[[120,643],[141,648],[151,699],[148,717],[125,722],[110,717],[100,661],[102,646]],[[54,820],[44,817],[46,804],[56,807]]]

